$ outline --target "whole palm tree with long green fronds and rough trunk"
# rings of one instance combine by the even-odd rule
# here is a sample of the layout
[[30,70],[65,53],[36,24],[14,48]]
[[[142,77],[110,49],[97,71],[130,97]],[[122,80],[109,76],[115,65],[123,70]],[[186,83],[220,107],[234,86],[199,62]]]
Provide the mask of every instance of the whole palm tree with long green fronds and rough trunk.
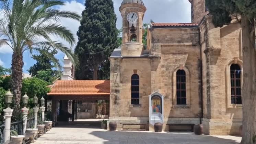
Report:
[[[23,53],[39,52],[47,56],[56,66],[60,66],[44,47],[56,48],[72,61],[78,61],[72,50],[59,41],[51,40],[52,35],[67,41],[71,46],[75,38],[71,31],[58,24],[61,18],[80,20],[80,15],[56,9],[64,5],[61,0],[1,0],[2,19],[0,20],[0,48],[7,45],[12,55],[12,91],[15,108],[20,105],[22,87]],[[14,110],[15,111],[15,110]]]

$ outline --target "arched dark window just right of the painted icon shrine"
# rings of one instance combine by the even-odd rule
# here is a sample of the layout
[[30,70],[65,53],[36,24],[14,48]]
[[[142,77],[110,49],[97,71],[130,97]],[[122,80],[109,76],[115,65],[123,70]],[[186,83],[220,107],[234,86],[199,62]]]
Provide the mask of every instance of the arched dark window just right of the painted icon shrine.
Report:
[[186,105],[186,72],[178,70],[176,73],[177,105]]

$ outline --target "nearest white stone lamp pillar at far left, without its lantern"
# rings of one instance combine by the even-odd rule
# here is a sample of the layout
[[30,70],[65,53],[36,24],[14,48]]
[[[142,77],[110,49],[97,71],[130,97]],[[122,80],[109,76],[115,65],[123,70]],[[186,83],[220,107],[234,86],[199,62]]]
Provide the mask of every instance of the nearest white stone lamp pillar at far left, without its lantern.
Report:
[[4,112],[4,143],[10,140],[10,130],[11,130],[11,117],[13,109],[7,108],[3,110]]

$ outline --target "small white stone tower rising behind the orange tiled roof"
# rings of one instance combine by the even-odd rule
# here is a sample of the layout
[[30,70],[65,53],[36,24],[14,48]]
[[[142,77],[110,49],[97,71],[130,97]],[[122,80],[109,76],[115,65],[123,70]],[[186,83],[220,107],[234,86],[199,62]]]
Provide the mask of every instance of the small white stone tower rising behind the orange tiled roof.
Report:
[[71,60],[65,55],[64,66],[61,80],[72,81],[74,80],[74,69]]

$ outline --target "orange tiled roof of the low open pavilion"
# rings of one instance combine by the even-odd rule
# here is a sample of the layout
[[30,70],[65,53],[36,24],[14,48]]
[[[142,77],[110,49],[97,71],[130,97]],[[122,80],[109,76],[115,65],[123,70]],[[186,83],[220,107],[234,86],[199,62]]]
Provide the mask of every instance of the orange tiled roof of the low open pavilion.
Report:
[[110,81],[61,81],[51,87],[47,95],[109,95]]

